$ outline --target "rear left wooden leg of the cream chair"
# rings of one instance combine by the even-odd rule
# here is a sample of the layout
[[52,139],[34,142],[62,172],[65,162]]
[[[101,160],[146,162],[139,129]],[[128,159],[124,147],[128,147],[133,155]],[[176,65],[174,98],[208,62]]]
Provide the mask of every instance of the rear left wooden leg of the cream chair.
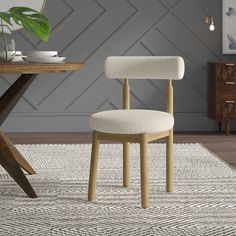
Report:
[[129,187],[130,163],[129,163],[129,142],[123,143],[123,186]]

